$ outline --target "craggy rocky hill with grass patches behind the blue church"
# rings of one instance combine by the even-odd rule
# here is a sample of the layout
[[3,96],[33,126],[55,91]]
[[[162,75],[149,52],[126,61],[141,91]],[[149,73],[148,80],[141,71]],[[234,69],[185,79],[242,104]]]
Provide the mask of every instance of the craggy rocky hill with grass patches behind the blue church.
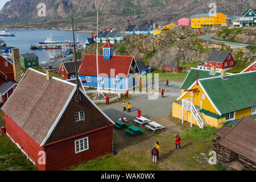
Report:
[[[100,54],[102,54],[99,44]],[[143,60],[152,68],[162,68],[163,64],[180,66],[205,61],[212,49],[232,52],[236,59],[236,71],[241,71],[254,61],[256,49],[230,49],[225,44],[216,44],[197,38],[191,27],[177,26],[159,35],[127,35],[122,44],[114,44],[114,55],[133,55],[135,60]],[[96,54],[96,44],[82,49],[85,53]]]

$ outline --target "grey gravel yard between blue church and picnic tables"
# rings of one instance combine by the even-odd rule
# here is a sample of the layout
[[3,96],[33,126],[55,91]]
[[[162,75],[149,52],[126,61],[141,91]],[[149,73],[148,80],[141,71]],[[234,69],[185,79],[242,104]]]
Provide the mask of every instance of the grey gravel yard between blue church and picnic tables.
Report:
[[131,104],[131,113],[123,111],[122,102],[110,104],[108,106],[102,105],[100,108],[113,121],[116,121],[121,117],[135,119],[138,109],[142,111],[141,115],[146,118],[168,117],[172,111],[172,102],[180,96],[180,85],[181,83],[179,82],[169,81],[169,87],[166,87],[165,82],[159,82],[159,87],[164,88],[164,90],[166,89],[166,92],[164,92],[164,98],[159,94],[159,97],[156,100],[148,100],[147,94],[131,94],[132,99],[129,101]]

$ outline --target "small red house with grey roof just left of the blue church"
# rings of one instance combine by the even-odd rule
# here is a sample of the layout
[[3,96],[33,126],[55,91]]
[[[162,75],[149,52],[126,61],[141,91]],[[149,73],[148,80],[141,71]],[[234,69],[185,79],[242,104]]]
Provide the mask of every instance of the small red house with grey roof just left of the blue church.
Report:
[[[77,60],[77,70],[82,63],[82,60]],[[71,78],[75,78],[76,69],[75,69],[75,61],[67,61],[60,65],[58,76],[63,78],[64,80],[68,80]]]

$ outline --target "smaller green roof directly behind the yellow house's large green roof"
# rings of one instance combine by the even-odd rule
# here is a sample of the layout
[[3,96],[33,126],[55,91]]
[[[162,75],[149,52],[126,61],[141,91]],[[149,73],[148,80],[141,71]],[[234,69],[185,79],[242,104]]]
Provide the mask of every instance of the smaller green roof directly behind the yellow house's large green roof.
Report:
[[196,71],[198,71],[198,79],[210,78],[220,76],[220,72],[216,72],[214,76],[209,75],[210,71],[203,69],[191,68],[183,84],[180,86],[181,89],[187,90],[196,81]]

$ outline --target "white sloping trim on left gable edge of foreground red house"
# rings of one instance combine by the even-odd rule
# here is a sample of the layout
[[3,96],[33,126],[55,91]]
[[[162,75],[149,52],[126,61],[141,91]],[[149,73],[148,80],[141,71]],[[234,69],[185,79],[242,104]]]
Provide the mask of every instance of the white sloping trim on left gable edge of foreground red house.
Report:
[[[59,79],[59,80],[60,80],[60,79]],[[65,81],[65,82],[67,82],[67,81]],[[74,85],[75,85],[75,84],[74,84]],[[66,101],[64,107],[63,107],[62,110],[60,111],[60,114],[58,115],[56,121],[53,123],[51,129],[48,131],[48,133],[47,133],[47,135],[46,135],[46,138],[44,138],[43,142],[40,144],[40,147],[42,147],[42,146],[46,143],[46,141],[48,140],[49,136],[51,136],[52,131],[55,129],[57,123],[60,121],[60,118],[62,117],[64,111],[67,109],[67,106],[68,106],[69,102],[71,101],[73,95],[75,94],[76,89],[77,89],[77,87],[76,87],[76,85],[75,85],[75,87],[73,88],[72,93],[70,94],[70,96],[69,96],[68,100]]]

